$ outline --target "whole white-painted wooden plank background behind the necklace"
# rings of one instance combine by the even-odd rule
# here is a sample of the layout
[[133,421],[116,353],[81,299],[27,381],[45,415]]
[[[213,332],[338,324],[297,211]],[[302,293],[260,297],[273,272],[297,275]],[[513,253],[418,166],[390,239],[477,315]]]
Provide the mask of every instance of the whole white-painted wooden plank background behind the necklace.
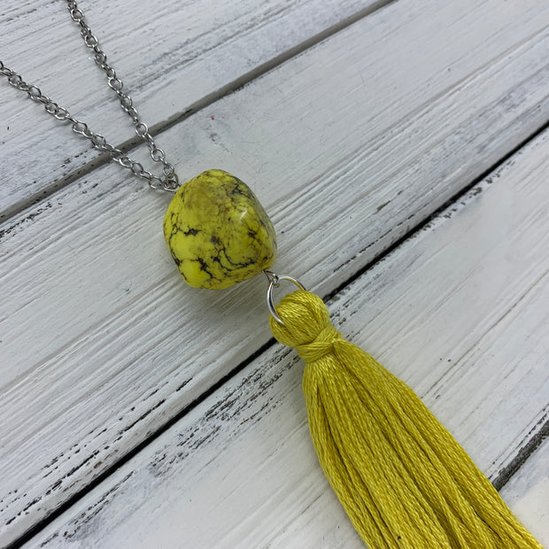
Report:
[[[549,4],[81,8],[180,177],[248,182],[276,270],[330,296],[549,544]],[[6,66],[134,143],[63,2],[0,10]],[[0,90],[0,545],[361,546],[265,282],[185,287],[170,197]]]

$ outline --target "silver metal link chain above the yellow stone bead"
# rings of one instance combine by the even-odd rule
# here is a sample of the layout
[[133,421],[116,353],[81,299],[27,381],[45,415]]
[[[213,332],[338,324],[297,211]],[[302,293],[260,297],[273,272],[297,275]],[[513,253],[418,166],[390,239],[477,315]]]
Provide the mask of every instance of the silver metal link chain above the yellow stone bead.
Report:
[[70,122],[73,132],[78,135],[82,135],[89,139],[92,145],[99,151],[107,152],[111,158],[118,162],[120,166],[127,167],[131,170],[137,177],[141,177],[149,183],[151,189],[162,189],[170,192],[175,192],[179,187],[179,182],[177,175],[175,174],[174,166],[166,160],[166,154],[162,149],[157,147],[154,143],[152,135],[149,133],[148,126],[139,119],[139,115],[133,106],[131,97],[128,94],[125,94],[122,89],[124,84],[117,77],[116,72],[107,63],[107,56],[103,50],[99,47],[96,36],[94,36],[89,28],[86,20],[84,19],[84,14],[78,8],[75,0],[66,0],[67,8],[71,14],[73,21],[80,27],[81,36],[84,40],[84,43],[88,48],[94,50],[95,52],[95,61],[98,66],[100,66],[104,73],[107,76],[107,83],[109,88],[111,88],[120,99],[120,106],[125,112],[128,112],[129,117],[134,122],[135,133],[139,135],[151,152],[151,159],[155,162],[160,162],[162,167],[162,176],[151,174],[146,170],[139,162],[130,159],[123,151],[113,147],[111,144],[106,142],[106,139],[103,135],[94,134],[89,128],[88,124],[81,122],[81,120],[76,120],[69,114],[69,112],[64,107],[60,107],[55,101],[52,101],[50,97],[45,96],[40,88],[33,84],[27,84],[18,73],[12,71],[12,69],[4,66],[2,60],[0,60],[0,73],[4,74],[7,77],[8,81],[12,86],[21,91],[25,91],[33,101],[36,103],[42,103],[46,112],[49,112],[51,116],[60,120],[62,122]]

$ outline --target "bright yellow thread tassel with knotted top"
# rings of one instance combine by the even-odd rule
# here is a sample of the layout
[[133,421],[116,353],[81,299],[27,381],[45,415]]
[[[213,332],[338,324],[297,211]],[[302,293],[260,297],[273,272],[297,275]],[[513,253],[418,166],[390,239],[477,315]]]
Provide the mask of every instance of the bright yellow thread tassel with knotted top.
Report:
[[331,325],[298,290],[271,317],[305,360],[303,390],[321,466],[371,548],[543,549],[406,383]]

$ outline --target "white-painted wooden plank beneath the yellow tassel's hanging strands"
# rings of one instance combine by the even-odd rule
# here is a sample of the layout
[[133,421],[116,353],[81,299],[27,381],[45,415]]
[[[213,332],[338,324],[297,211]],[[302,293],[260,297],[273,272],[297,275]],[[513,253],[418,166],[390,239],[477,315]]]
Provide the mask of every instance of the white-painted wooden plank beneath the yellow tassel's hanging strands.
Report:
[[[549,131],[329,303],[492,477],[547,421],[548,176]],[[274,346],[27,546],[363,547],[318,466],[302,371]],[[528,509],[548,451],[504,491],[545,541],[546,506]]]

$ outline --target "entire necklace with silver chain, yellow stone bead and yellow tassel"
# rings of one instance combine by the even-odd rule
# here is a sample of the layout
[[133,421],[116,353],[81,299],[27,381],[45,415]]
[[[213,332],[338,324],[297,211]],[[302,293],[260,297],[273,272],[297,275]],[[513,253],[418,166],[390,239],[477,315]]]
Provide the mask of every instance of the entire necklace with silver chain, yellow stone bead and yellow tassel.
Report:
[[[74,0],[67,0],[86,46],[143,138],[152,174],[94,134],[35,85],[0,61],[0,73],[99,151],[174,193],[164,218],[166,244],[192,287],[221,290],[256,274],[267,276],[270,328],[305,360],[303,390],[321,467],[365,544],[374,548],[537,548],[541,545],[499,497],[452,435],[405,383],[332,326],[321,298],[270,269],[274,227],[251,189],[234,175],[207,170],[179,185],[174,166],[140,120]],[[274,306],[282,282],[298,290]]]

